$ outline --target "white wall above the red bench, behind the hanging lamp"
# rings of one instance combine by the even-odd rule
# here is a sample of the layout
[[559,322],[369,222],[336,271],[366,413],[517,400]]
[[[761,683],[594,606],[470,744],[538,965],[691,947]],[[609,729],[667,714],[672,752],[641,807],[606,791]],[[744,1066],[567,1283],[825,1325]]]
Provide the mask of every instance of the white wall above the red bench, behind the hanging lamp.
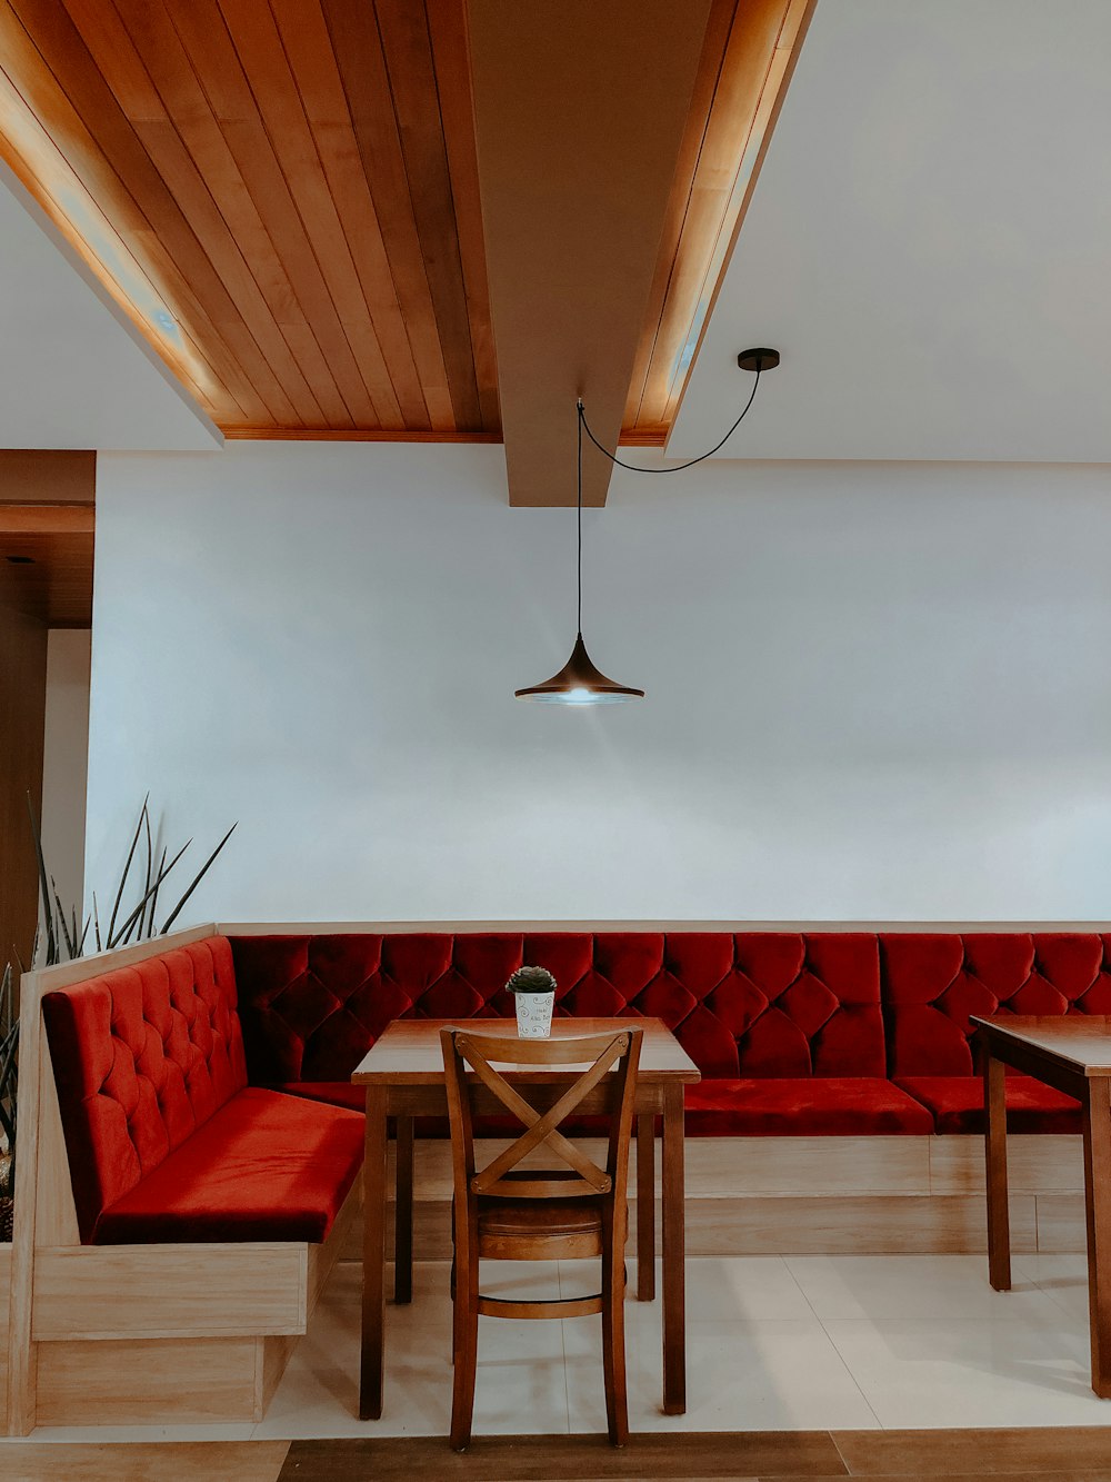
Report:
[[1089,467],[714,464],[587,511],[641,704],[524,705],[573,511],[499,448],[102,456],[89,880],[150,788],[234,919],[1084,919],[1111,906]]

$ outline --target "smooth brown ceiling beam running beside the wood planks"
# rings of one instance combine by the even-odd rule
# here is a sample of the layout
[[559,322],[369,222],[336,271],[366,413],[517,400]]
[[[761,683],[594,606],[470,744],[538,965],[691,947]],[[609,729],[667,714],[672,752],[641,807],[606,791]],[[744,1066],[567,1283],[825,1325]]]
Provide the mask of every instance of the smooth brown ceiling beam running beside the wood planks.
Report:
[[[510,502],[575,502],[575,400],[618,442],[710,0],[471,0]],[[612,465],[584,456],[584,504]]]

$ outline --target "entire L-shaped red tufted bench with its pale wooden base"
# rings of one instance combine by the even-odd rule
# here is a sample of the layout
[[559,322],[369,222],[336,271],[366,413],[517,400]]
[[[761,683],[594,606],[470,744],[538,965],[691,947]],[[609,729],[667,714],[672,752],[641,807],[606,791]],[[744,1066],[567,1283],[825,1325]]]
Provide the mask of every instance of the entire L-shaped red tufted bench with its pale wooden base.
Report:
[[[200,926],[27,974],[16,1426],[259,1420],[356,1249],[354,1064],[396,1017],[511,1015],[523,960],[553,969],[558,1014],[658,1015],[701,1067],[690,1254],[982,1248],[982,1150],[950,1135],[982,1116],[969,1015],[1111,1012],[1110,941]],[[1021,1076],[1009,1104],[1019,1134],[1078,1126]],[[1078,1143],[1012,1138],[1016,1249],[1083,1245]],[[446,1152],[418,1147],[428,1258],[450,1254]]]

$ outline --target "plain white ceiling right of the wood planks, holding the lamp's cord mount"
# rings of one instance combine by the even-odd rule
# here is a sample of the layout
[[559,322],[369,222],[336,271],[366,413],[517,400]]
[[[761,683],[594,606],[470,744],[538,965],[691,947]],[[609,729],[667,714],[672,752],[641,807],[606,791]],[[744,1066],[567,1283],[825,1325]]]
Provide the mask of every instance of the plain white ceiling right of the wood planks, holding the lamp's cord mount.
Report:
[[1111,3],[818,0],[668,453],[1111,461]]

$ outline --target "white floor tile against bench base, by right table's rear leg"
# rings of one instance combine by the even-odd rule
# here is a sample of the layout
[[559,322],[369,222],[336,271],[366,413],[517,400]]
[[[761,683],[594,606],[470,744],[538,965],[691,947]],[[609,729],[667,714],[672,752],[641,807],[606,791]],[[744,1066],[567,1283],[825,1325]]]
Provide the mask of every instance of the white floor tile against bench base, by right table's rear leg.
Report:
[[982,1255],[788,1255],[784,1260],[822,1320],[1055,1320],[1053,1304],[1019,1272],[1012,1291],[992,1291]]

